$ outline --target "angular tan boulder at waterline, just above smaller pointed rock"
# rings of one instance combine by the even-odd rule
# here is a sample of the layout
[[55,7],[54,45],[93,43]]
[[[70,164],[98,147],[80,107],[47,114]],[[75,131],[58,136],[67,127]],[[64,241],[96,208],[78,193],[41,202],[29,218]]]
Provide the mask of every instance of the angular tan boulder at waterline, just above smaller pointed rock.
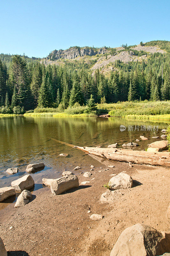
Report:
[[12,181],[11,186],[15,188],[15,190],[22,192],[25,189],[33,188],[34,180],[31,175],[27,174],[18,180]]

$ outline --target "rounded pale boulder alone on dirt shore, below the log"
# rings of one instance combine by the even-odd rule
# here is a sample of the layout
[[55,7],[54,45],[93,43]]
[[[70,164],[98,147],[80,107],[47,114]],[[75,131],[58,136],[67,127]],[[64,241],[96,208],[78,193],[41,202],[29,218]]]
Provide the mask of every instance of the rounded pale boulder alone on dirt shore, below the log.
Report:
[[128,175],[124,172],[121,172],[121,173],[115,175],[114,177],[112,177],[109,180],[108,185],[109,185],[110,190],[115,190],[115,189],[120,189],[120,188],[126,189],[126,188],[132,187],[133,180],[130,177],[130,175]]

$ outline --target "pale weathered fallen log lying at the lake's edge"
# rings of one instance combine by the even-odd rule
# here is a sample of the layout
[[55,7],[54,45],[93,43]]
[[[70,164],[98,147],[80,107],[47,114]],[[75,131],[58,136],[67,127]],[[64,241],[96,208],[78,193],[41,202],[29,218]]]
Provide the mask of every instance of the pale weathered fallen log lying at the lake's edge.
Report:
[[77,148],[88,152],[89,154],[105,157],[110,160],[170,167],[169,152],[147,152],[132,149],[89,148],[79,146],[77,146]]

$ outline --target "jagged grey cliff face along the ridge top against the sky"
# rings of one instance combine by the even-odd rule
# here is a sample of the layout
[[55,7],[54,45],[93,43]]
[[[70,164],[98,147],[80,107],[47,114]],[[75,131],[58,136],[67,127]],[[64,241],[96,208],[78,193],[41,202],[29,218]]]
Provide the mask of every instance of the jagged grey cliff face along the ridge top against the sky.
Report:
[[99,50],[98,49],[94,49],[94,48],[90,48],[90,47],[71,47],[67,50],[54,50],[51,52],[51,54],[48,55],[47,59],[53,59],[54,60],[58,60],[58,59],[75,59],[78,56],[94,56],[96,54],[104,54],[107,52],[107,48],[106,47],[102,47]]

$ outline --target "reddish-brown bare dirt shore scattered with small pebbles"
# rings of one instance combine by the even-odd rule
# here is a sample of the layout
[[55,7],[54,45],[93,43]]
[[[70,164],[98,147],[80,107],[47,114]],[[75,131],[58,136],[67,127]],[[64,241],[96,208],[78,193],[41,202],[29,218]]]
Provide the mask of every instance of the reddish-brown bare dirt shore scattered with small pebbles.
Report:
[[[33,191],[29,204],[16,209],[12,203],[1,210],[0,236],[8,256],[109,256],[121,232],[136,223],[169,233],[169,169],[138,164],[129,167],[121,162],[114,165],[98,172],[106,169],[101,163],[102,169],[94,168],[90,178],[79,174],[80,183],[90,181],[87,186],[58,196],[48,187],[41,188]],[[109,175],[122,171],[131,175],[133,187],[116,191],[113,203],[101,203]],[[90,220],[93,213],[104,218]]]

